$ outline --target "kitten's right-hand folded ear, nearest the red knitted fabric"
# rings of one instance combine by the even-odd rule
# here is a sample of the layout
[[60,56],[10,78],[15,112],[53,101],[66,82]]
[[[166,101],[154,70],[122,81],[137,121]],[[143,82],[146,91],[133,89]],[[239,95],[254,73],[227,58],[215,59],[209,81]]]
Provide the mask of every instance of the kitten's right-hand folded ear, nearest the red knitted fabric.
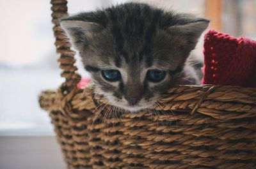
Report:
[[209,20],[205,18],[188,18],[179,20],[179,22],[173,26],[167,28],[168,32],[175,34],[183,40],[186,40],[186,43],[190,43],[192,46],[195,46],[198,38],[209,26]]

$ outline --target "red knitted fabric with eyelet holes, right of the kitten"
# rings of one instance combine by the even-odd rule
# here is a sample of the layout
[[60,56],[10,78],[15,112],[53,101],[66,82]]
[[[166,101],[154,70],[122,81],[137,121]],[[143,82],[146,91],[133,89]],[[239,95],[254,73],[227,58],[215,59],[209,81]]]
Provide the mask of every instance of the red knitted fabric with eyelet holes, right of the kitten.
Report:
[[202,84],[256,87],[256,41],[210,30],[204,37]]

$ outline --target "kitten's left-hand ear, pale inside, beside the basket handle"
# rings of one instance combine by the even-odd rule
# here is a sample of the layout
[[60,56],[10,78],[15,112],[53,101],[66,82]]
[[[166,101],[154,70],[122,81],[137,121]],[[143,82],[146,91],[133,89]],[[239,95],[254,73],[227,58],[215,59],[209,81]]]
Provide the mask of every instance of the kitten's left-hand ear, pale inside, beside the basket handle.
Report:
[[81,50],[94,33],[99,33],[104,29],[95,22],[77,20],[76,16],[61,19],[60,25],[76,50]]

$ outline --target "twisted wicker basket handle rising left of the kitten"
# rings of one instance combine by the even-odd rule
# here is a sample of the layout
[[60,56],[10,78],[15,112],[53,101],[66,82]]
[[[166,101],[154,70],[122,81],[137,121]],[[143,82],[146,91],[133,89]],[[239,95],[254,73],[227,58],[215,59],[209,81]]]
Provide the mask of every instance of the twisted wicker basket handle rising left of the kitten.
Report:
[[56,38],[55,46],[56,51],[60,54],[58,62],[60,62],[60,68],[62,71],[61,77],[65,78],[65,82],[61,85],[63,93],[70,92],[76,88],[77,83],[81,79],[81,76],[76,73],[76,66],[74,63],[76,59],[74,55],[76,52],[70,49],[71,44],[67,39],[65,31],[61,29],[60,18],[67,17],[67,0],[51,0],[52,10],[52,24],[54,24],[53,31]]

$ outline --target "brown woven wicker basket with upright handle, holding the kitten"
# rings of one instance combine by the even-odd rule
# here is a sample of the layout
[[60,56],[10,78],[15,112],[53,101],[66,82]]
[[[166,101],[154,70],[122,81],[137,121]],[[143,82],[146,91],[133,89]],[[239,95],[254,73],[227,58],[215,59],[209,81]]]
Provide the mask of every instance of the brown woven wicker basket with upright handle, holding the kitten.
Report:
[[[154,113],[110,112],[92,87],[76,88],[75,53],[59,22],[67,1],[51,4],[66,81],[42,92],[40,105],[49,112],[67,168],[256,168],[255,88],[179,86]],[[102,122],[104,116],[109,120]]]

